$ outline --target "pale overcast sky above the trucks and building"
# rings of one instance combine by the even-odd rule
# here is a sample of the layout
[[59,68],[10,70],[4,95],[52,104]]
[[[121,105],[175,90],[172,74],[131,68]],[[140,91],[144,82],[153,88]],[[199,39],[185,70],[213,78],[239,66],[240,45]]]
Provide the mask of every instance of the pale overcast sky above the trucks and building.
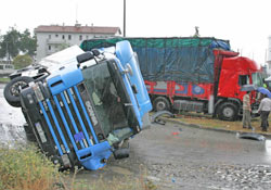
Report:
[[[271,0],[126,0],[127,37],[201,37],[230,40],[232,50],[264,64]],[[0,34],[39,25],[117,26],[124,0],[1,0]]]

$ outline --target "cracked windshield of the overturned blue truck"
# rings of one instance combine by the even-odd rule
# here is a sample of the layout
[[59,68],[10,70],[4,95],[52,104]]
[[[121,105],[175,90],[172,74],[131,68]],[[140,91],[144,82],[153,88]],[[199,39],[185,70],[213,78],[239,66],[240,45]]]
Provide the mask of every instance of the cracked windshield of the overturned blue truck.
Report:
[[[116,80],[116,74],[113,76],[108,63],[103,62],[88,67],[82,74],[104,135],[107,137],[118,129],[128,128],[131,119],[134,121],[136,117],[133,112],[126,110],[125,103],[128,99],[125,88]],[[122,140],[128,134],[122,134],[122,137],[118,138]]]

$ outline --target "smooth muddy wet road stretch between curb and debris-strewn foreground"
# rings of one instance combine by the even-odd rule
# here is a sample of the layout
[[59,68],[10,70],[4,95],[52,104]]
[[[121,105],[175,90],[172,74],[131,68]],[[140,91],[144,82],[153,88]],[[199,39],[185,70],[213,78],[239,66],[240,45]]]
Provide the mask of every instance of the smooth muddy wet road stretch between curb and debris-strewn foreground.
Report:
[[138,145],[139,151],[153,154],[154,156],[147,156],[147,160],[154,162],[178,161],[181,157],[201,163],[221,161],[271,165],[271,141],[268,138],[266,141],[238,139],[235,134],[178,125],[154,127],[142,136],[140,141],[145,145]]

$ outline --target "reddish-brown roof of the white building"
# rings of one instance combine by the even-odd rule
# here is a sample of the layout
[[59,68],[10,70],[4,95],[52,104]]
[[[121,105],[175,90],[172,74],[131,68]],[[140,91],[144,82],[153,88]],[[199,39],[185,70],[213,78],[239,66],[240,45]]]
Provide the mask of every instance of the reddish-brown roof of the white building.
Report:
[[35,28],[35,33],[81,33],[81,34],[120,34],[119,27],[106,27],[106,26],[81,26],[76,24],[75,26],[61,26],[61,25],[40,25]]

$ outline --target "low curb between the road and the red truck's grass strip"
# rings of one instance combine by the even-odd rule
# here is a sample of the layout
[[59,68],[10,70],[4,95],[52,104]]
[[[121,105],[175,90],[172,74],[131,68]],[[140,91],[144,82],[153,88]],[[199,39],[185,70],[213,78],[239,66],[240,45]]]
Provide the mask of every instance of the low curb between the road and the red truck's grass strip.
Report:
[[[160,117],[160,119],[163,119],[165,122],[170,122],[172,124],[179,124],[179,125],[183,125],[183,126],[186,126],[186,127],[193,127],[193,128],[199,128],[199,129],[215,130],[215,131],[229,132],[229,134],[247,132],[247,131],[242,131],[242,130],[227,130],[227,129],[223,129],[223,128],[203,127],[201,125],[188,124],[185,122],[177,121],[176,118]],[[271,137],[270,132],[269,134],[256,132],[256,134],[262,135],[264,137]]]

